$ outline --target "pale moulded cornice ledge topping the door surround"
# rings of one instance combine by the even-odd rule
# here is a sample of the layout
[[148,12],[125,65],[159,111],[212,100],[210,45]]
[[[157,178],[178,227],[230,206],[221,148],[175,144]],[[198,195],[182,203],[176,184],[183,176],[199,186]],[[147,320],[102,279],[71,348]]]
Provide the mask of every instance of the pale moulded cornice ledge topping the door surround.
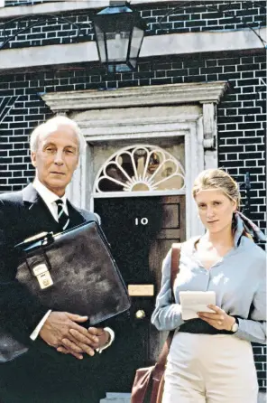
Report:
[[82,109],[130,108],[191,103],[217,104],[226,92],[226,81],[167,84],[125,89],[52,92],[41,98],[53,112]]

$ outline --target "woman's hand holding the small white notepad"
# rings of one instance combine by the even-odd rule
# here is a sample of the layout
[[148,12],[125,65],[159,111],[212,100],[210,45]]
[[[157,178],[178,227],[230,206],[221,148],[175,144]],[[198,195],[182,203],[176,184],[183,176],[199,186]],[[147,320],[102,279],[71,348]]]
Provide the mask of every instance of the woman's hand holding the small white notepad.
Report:
[[198,317],[218,330],[231,331],[232,326],[235,323],[235,318],[226,314],[223,309],[216,305],[207,305],[207,307],[212,309],[215,313],[198,312]]

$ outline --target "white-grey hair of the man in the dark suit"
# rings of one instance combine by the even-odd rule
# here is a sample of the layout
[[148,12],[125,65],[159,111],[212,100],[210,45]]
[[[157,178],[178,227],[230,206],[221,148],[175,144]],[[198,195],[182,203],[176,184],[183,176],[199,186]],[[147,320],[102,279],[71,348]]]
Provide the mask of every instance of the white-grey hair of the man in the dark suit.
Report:
[[36,153],[38,149],[39,138],[42,134],[49,134],[50,132],[56,130],[60,126],[69,126],[73,129],[75,135],[78,138],[78,153],[81,154],[86,147],[86,139],[82,135],[78,124],[69,119],[69,117],[51,117],[44,123],[41,123],[38,127],[32,131],[30,138],[30,149],[32,152]]

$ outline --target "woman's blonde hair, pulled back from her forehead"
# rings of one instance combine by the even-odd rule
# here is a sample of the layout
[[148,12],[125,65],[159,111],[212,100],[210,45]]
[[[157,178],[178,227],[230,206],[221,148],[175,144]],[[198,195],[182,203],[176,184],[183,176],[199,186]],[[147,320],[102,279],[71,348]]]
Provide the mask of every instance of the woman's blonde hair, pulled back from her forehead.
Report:
[[237,183],[229,173],[222,169],[206,169],[199,173],[193,185],[193,197],[200,191],[211,189],[224,192],[230,200],[236,201],[236,209],[239,210],[241,195]]

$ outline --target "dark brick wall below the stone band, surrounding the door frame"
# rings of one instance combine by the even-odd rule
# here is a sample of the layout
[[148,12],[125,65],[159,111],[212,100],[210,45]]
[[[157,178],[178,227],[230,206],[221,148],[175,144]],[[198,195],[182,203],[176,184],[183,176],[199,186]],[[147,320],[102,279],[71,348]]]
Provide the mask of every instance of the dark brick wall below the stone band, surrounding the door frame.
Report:
[[[75,89],[112,89],[142,85],[228,80],[232,89],[218,107],[220,166],[233,174],[244,195],[244,177],[251,173],[253,220],[265,227],[265,56],[180,56],[142,61],[138,70],[106,74],[91,64],[0,76],[0,99],[14,102],[1,125],[2,192],[19,189],[31,177],[27,141],[32,127],[49,116],[38,93]],[[5,112],[8,107],[5,108]],[[5,113],[4,112],[4,113]]]

